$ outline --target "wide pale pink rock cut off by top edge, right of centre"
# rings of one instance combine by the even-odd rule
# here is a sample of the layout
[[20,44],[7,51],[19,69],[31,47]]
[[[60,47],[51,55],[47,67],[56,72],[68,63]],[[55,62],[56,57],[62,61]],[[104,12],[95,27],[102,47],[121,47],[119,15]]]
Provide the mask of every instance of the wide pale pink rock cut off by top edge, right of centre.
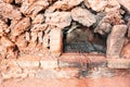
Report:
[[96,12],[104,10],[108,12],[120,8],[117,0],[84,0],[84,4]]

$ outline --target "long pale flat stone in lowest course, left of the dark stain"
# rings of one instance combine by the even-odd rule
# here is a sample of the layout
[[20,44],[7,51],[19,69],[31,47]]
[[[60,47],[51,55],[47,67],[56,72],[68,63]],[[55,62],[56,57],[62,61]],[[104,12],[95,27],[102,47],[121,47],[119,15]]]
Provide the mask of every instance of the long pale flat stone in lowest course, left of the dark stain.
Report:
[[40,70],[36,73],[36,78],[74,78],[78,76],[78,69]]

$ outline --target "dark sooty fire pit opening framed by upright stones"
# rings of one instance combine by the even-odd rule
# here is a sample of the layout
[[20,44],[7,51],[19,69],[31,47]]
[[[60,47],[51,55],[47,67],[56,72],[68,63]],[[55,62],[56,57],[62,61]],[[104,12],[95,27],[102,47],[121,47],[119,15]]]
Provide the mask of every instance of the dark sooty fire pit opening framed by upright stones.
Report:
[[63,30],[63,52],[106,53],[106,36],[93,33],[93,28],[72,23]]

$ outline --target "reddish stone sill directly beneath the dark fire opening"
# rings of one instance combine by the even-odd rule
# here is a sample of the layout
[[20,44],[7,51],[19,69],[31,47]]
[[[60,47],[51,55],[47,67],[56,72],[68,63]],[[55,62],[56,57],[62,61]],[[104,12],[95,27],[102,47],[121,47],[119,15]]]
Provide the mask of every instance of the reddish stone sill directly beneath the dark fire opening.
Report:
[[67,62],[84,62],[84,63],[101,63],[106,62],[106,58],[103,54],[91,53],[63,53],[60,57],[60,61]]

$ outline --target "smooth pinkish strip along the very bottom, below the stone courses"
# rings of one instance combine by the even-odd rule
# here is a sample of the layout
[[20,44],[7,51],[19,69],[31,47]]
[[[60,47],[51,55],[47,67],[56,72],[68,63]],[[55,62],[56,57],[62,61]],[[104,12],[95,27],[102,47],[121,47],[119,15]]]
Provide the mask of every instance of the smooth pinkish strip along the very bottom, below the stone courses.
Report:
[[[116,80],[116,83],[114,83]],[[130,76],[114,76],[114,77],[103,77],[103,78],[25,78],[24,80],[18,82],[17,79],[6,80],[2,83],[1,87],[129,87],[130,86]],[[31,83],[30,83],[31,82]]]

